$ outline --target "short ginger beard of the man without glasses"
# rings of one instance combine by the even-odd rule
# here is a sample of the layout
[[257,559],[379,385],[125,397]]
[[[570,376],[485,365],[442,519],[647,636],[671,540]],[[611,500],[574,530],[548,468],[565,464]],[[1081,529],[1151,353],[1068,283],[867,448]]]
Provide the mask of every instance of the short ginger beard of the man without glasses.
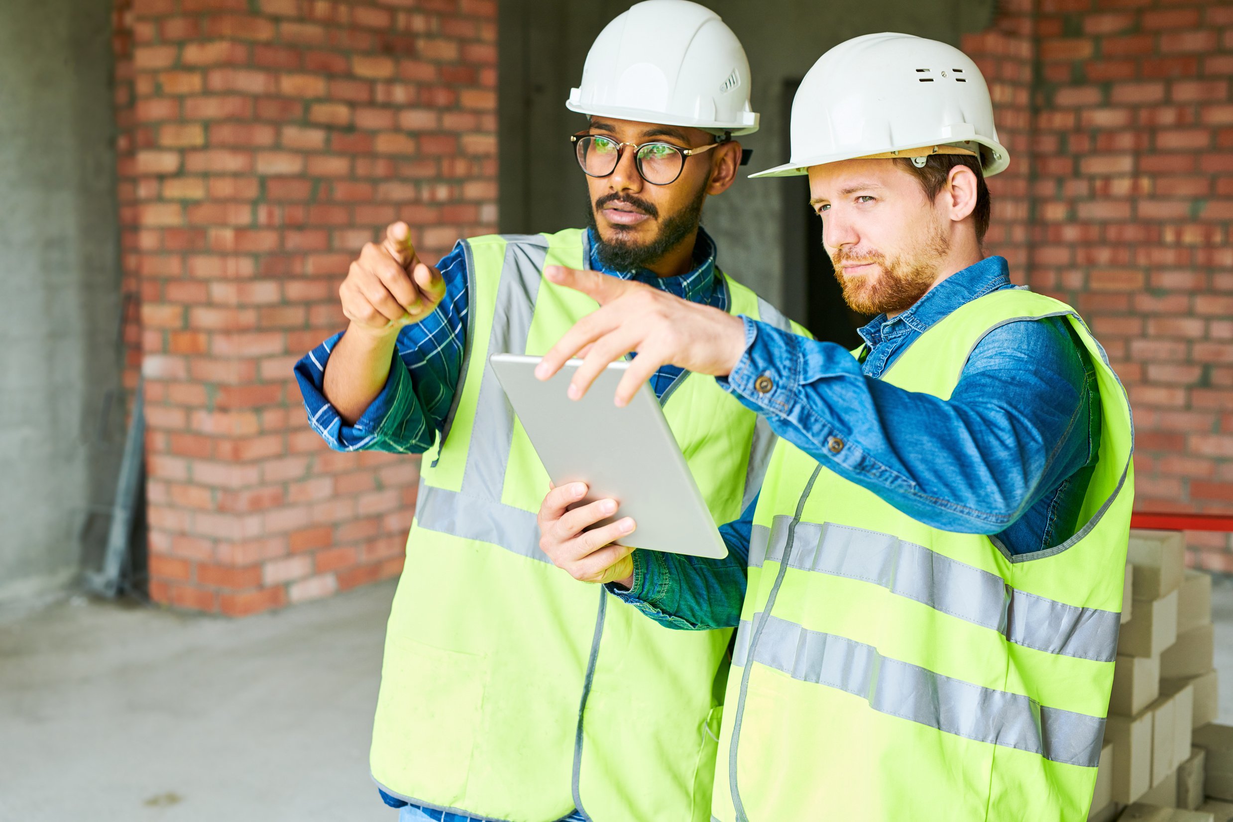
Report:
[[[928,235],[916,248],[887,259],[877,249],[840,249],[831,255],[835,279],[843,288],[843,299],[859,314],[898,313],[911,308],[933,287],[938,264],[951,251],[951,238],[935,223]],[[845,262],[872,262],[882,271],[874,275],[845,276]]]

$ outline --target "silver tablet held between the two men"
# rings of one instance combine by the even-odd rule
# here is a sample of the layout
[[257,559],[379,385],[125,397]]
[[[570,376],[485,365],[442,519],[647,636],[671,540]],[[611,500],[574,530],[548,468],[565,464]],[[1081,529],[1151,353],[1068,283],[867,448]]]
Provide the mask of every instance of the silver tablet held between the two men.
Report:
[[538,356],[493,354],[488,361],[552,482],[587,483],[591,490],[580,504],[605,498],[620,504],[598,525],[633,516],[637,527],[629,545],[727,556],[651,386],[639,388],[624,408],[613,403],[628,361],[609,365],[578,401],[565,391],[581,360],[570,360],[544,382],[535,378]]

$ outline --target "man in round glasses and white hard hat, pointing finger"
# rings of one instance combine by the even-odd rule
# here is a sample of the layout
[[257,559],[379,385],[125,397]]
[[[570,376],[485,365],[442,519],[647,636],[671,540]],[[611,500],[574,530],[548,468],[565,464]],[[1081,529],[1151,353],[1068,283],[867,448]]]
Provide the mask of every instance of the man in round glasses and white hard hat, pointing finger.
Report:
[[[332,447],[428,452],[371,751],[403,822],[710,818],[731,631],[667,630],[551,566],[535,515],[549,478],[487,360],[541,355],[597,308],[543,280],[545,265],[792,328],[719,271],[699,226],[707,196],[737,174],[734,137],[757,128],[750,87],[714,12],[633,6],[599,35],[567,102],[589,117],[571,138],[588,228],[460,240],[433,267],[396,223],[339,290],[346,332],[296,366]],[[716,521],[737,519],[761,486],[769,426],[709,377],[670,366],[647,378]],[[597,545],[623,523],[597,530]],[[618,721],[629,711],[636,727]]]

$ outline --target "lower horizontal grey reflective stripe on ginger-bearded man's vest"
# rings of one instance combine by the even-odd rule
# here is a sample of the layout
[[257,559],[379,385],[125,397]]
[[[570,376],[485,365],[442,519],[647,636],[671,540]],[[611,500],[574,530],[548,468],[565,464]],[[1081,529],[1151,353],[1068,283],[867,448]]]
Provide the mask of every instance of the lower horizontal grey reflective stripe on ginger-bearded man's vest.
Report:
[[[761,614],[755,614],[758,619]],[[745,665],[748,622],[736,633],[732,664]],[[965,739],[1036,753],[1052,762],[1095,768],[1105,718],[1047,707],[1007,691],[891,659],[863,642],[809,631],[778,616],[762,620],[753,661],[793,679],[863,698],[875,711]]]

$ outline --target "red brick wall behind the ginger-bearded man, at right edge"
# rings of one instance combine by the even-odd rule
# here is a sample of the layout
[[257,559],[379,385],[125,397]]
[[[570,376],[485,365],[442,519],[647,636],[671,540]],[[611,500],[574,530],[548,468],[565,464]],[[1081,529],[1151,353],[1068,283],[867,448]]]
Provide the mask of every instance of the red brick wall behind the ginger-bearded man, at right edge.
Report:
[[[1027,11],[1028,280],[1080,309],[1129,391],[1137,508],[1233,510],[1233,4]],[[1187,536],[1233,572],[1227,535]]]

